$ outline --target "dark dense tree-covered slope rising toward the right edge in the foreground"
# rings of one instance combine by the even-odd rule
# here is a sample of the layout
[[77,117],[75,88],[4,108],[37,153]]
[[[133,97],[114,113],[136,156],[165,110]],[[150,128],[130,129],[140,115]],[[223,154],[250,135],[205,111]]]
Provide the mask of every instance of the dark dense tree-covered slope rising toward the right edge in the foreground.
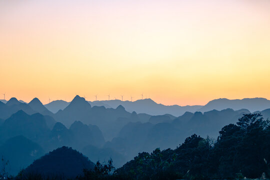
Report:
[[269,121],[257,113],[244,114],[236,124],[224,126],[215,142],[193,134],[174,150],[139,153],[103,179],[269,177],[269,152]]

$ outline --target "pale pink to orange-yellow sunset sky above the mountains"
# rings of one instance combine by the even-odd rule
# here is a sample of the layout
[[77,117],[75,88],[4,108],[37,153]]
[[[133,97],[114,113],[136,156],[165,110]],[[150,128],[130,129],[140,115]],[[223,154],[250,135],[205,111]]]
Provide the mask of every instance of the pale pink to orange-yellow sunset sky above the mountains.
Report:
[[0,0],[0,93],[42,103],[270,99],[269,9],[269,0]]

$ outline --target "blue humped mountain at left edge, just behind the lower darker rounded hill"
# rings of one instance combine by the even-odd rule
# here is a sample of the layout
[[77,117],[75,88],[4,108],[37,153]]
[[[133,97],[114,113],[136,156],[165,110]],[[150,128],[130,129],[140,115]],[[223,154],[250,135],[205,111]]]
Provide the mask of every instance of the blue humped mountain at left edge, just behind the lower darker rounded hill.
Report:
[[40,113],[29,115],[22,110],[7,118],[0,126],[0,138],[23,135],[35,142],[43,141],[49,133],[45,117]]

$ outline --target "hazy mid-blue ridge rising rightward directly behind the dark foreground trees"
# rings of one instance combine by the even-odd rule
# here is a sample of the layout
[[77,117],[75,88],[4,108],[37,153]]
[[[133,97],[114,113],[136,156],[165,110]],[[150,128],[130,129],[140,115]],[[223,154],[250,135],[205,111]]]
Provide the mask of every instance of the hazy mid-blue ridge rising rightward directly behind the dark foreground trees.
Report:
[[227,108],[204,113],[185,112],[173,120],[166,115],[152,116],[147,123],[129,122],[104,147],[114,149],[125,154],[126,159],[131,159],[138,152],[150,152],[156,147],[175,148],[186,136],[194,133],[216,138],[224,125],[236,123],[243,113],[250,112],[247,109],[234,111]]

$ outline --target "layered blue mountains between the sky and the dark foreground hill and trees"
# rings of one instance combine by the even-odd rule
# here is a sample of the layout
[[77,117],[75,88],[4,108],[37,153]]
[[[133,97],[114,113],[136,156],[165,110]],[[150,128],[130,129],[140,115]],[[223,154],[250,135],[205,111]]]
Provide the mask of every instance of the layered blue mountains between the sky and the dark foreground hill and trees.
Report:
[[[244,105],[251,108],[251,102],[261,104],[259,108],[268,107],[267,99],[243,100],[246,103],[217,99],[201,107],[204,108],[202,112],[186,111],[174,116],[129,112],[124,104],[116,106],[118,101],[109,108],[93,106],[78,95],[71,102],[56,101],[66,106],[53,113],[38,98],[27,104],[12,97],[6,103],[0,102],[0,155],[15,163],[11,164],[12,173],[17,173],[45,152],[62,146],[79,150],[93,161],[107,161],[112,157],[116,159],[115,166],[119,167],[138,152],[149,152],[156,147],[175,148],[193,133],[216,138],[222,126],[235,124],[243,114],[250,113],[245,108],[216,110],[230,105],[227,102],[234,104],[234,108]],[[224,105],[223,101],[226,102]],[[146,102],[149,106],[155,103],[150,99],[136,103]],[[213,107],[215,109],[211,109]],[[204,111],[207,109],[211,110]],[[255,112],[264,118],[270,117],[270,108]],[[15,162],[12,156],[21,158]]]

